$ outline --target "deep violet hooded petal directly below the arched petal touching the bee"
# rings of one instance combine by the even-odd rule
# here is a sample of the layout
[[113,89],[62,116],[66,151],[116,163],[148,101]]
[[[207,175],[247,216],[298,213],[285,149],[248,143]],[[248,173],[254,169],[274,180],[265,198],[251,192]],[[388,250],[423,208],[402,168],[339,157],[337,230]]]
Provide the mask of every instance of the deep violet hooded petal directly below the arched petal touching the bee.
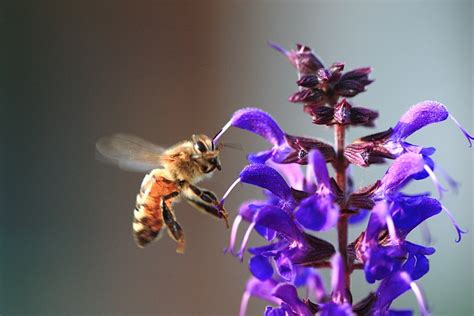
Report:
[[273,168],[263,164],[251,164],[240,173],[243,183],[264,188],[280,199],[292,200],[291,189],[283,177]]

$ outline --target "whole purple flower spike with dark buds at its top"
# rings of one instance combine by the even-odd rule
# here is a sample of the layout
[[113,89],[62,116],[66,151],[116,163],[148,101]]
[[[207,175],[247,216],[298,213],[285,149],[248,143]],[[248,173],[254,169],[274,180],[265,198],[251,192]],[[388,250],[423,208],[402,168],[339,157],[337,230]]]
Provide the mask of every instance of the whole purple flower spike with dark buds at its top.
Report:
[[[429,271],[435,249],[408,240],[412,230],[432,216],[445,212],[456,231],[456,242],[465,233],[439,199],[427,193],[403,193],[411,181],[430,178],[441,194],[446,190],[437,178],[432,159],[435,149],[411,144],[407,138],[423,127],[450,117],[471,145],[473,137],[436,101],[412,106],[393,128],[344,145],[348,126],[374,126],[378,113],[354,106],[347,98],[364,92],[373,82],[370,67],[344,72],[344,63],[328,68],[307,46],[297,45],[284,54],[298,73],[298,90],[290,102],[302,103],[303,110],[317,125],[334,128],[336,144],[320,139],[285,133],[266,112],[241,109],[216,135],[217,142],[231,126],[257,134],[271,145],[249,154],[249,164],[241,171],[222,198],[223,205],[238,183],[263,189],[263,198],[241,205],[232,226],[226,251],[243,260],[248,252],[252,274],[242,298],[244,315],[251,297],[270,303],[266,316],[283,315],[411,315],[409,310],[393,310],[392,302],[406,291],[416,296],[421,314],[428,307],[416,281]],[[354,189],[350,165],[368,167],[393,160],[375,183]],[[306,166],[306,172],[301,165]],[[335,177],[330,177],[327,166]],[[445,175],[447,183],[456,182]],[[347,240],[348,223],[368,216],[365,229],[353,241]],[[238,229],[248,223],[240,247]],[[338,243],[317,237],[318,232],[337,229]],[[255,231],[266,243],[248,247]],[[336,247],[337,246],[337,247]],[[337,249],[336,249],[337,248]],[[320,269],[331,269],[331,289],[326,290]],[[350,275],[362,270],[376,290],[353,302]],[[298,288],[305,289],[304,291]],[[305,293],[304,296],[301,293]]]

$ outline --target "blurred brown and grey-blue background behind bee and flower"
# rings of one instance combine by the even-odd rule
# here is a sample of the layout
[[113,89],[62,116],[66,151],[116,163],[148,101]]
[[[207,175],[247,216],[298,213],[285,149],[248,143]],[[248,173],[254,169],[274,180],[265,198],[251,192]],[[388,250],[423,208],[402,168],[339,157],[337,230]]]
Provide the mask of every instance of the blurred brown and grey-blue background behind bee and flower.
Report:
[[[176,254],[167,236],[137,248],[131,221],[143,174],[99,163],[95,142],[125,132],[168,146],[193,133],[213,135],[245,106],[270,112],[290,134],[331,141],[331,130],[287,101],[296,74],[267,41],[304,43],[326,64],[374,68],[376,81],[354,102],[380,111],[380,119],[375,129],[351,129],[348,142],[393,126],[426,99],[446,104],[474,131],[472,1],[70,0],[3,8],[1,315],[238,313],[247,258],[222,253],[223,223],[181,203],[175,210],[186,254]],[[266,146],[237,130],[223,140],[246,151]],[[438,148],[435,160],[461,183],[443,203],[470,231],[456,244],[445,214],[429,221],[437,252],[419,283],[434,315],[471,315],[473,149],[450,121],[410,141]],[[226,149],[222,163],[202,183],[219,196],[245,154]],[[354,168],[356,184],[385,168]],[[232,215],[259,194],[240,187],[228,199]],[[363,227],[353,227],[352,237]],[[355,300],[371,289],[360,272],[353,282]],[[248,315],[264,306],[252,300]],[[395,306],[417,311],[410,292]]]

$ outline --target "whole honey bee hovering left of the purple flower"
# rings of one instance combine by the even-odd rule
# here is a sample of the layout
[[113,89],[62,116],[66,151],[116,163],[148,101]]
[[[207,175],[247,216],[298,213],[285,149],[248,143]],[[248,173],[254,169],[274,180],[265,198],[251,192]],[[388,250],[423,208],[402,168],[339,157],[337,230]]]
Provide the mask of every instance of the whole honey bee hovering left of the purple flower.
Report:
[[180,197],[198,210],[223,219],[229,227],[228,213],[216,195],[195,185],[215,169],[221,170],[221,145],[208,136],[193,135],[165,149],[136,136],[115,134],[99,139],[96,148],[105,161],[121,169],[149,171],[133,212],[133,233],[139,247],[159,238],[166,225],[169,236],[178,243],[176,252],[184,253],[183,229],[172,207]]

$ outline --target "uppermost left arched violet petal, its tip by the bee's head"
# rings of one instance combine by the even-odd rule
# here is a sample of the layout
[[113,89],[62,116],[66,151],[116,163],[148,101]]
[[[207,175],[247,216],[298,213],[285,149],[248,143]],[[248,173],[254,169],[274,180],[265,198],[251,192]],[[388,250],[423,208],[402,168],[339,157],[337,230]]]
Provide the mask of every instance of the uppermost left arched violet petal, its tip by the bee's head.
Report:
[[284,133],[270,114],[255,108],[245,108],[234,113],[232,126],[260,135],[274,146],[285,142]]

